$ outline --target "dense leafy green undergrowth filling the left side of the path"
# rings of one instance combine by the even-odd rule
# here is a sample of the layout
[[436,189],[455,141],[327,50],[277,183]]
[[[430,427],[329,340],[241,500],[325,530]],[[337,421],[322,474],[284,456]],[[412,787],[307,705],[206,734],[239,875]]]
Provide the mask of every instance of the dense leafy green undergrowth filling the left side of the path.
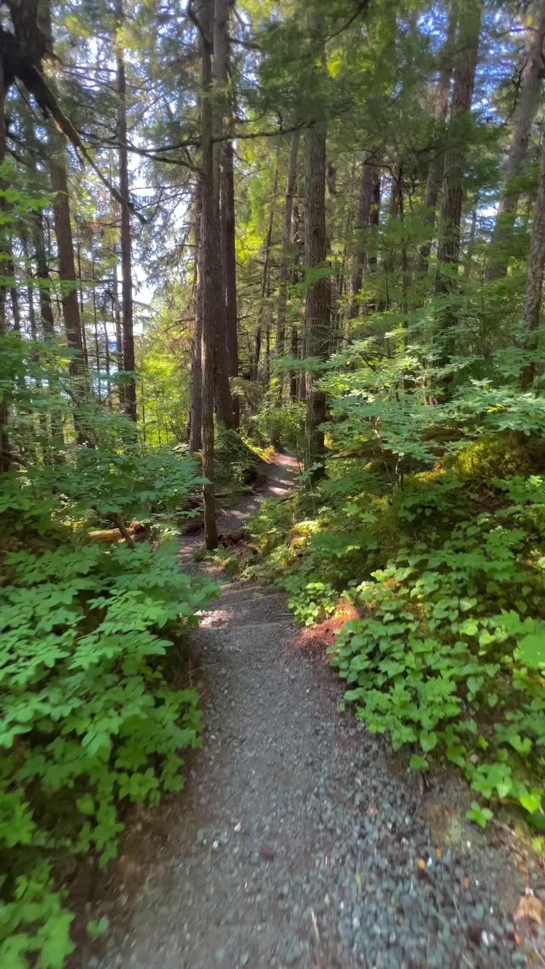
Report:
[[[60,402],[28,375],[26,389],[60,421]],[[83,435],[89,415],[74,417]],[[183,641],[214,588],[180,572],[170,540],[195,514],[185,508],[199,466],[142,453],[118,415],[90,420],[93,447],[46,460],[40,439],[31,452],[21,434],[2,476],[0,964],[10,969],[64,964],[74,945],[63,885],[115,856],[129,804],[181,789],[182,753],[203,726]],[[146,541],[89,536],[132,518]]]

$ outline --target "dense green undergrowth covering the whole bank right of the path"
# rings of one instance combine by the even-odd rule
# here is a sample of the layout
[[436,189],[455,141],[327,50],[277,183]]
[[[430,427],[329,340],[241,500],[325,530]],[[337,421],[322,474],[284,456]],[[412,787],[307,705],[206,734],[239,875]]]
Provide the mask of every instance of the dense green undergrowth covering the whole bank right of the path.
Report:
[[[542,407],[537,398],[531,406]],[[505,421],[505,407],[497,415]],[[343,430],[350,421],[354,435],[348,411]],[[246,573],[286,589],[304,625],[348,599],[359,618],[330,647],[345,701],[394,749],[408,745],[411,766],[459,766],[475,793],[472,820],[486,827],[498,804],[512,805],[540,846],[545,460],[537,435],[494,429],[472,443],[454,435],[455,447],[429,469],[430,455],[418,453],[424,432],[400,471],[383,459],[383,441],[381,459],[369,460],[369,429],[349,456],[330,424],[337,453],[327,476],[290,503],[264,503],[249,524],[263,557]],[[427,440],[433,447],[440,437],[435,429]]]

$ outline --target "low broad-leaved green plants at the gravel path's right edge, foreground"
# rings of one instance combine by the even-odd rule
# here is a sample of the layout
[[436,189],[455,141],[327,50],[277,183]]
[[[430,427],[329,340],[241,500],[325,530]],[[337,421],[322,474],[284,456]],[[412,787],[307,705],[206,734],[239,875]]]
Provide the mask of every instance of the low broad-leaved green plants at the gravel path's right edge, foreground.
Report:
[[368,615],[332,651],[371,732],[418,744],[418,769],[442,752],[482,797],[515,800],[541,826],[545,583],[516,518],[507,508],[401,547],[357,590]]

